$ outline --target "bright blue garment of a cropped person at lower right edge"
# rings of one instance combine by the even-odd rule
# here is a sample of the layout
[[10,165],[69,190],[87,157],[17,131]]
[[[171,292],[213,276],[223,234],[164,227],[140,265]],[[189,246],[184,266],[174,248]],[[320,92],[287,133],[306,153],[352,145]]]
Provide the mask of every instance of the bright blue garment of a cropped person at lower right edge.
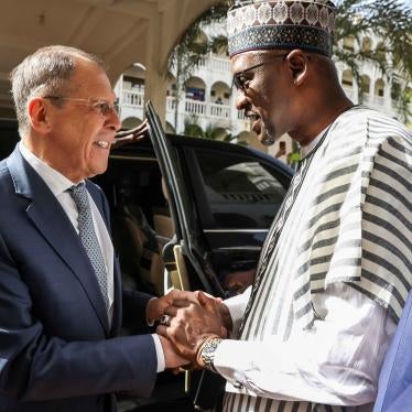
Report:
[[388,349],[373,412],[412,411],[412,293]]

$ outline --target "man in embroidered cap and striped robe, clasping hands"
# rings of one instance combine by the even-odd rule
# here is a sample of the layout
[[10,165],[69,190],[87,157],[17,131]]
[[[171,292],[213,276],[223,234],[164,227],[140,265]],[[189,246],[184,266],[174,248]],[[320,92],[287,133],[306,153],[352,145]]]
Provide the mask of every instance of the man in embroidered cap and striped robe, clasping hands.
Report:
[[[160,333],[227,380],[225,411],[371,411],[412,283],[411,133],[345,96],[327,1],[229,11],[237,108],[303,149],[252,288],[174,307]],[[228,332],[228,335],[226,334]]]

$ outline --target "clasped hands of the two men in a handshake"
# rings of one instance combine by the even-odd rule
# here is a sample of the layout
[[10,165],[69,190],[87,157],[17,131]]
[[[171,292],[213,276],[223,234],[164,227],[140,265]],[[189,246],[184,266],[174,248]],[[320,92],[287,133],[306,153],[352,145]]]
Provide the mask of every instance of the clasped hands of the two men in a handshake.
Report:
[[147,318],[161,321],[156,333],[165,367],[174,370],[182,366],[203,368],[203,347],[214,337],[226,338],[232,327],[229,310],[221,299],[202,291],[172,290],[154,297],[148,303]]

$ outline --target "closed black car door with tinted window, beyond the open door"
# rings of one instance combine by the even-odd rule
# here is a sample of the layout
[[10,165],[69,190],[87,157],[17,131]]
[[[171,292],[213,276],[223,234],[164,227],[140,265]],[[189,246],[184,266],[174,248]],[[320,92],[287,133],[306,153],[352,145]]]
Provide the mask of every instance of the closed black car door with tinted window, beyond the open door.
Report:
[[240,145],[203,141],[181,141],[176,145],[182,163],[191,171],[187,185],[193,191],[210,264],[226,295],[236,294],[253,279],[292,171],[273,158]]

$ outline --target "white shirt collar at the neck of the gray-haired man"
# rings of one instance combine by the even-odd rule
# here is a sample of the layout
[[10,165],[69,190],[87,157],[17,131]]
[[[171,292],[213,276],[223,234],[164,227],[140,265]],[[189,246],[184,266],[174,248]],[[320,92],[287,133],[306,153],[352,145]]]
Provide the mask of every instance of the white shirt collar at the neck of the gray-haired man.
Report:
[[45,184],[48,186],[48,188],[55,196],[67,191],[75,184],[72,181],[69,181],[66,176],[64,176],[62,173],[57,172],[55,169],[51,167],[48,164],[46,164],[35,154],[33,154],[24,145],[23,141],[20,141],[19,150],[24,160],[37,172],[37,174],[43,178]]

